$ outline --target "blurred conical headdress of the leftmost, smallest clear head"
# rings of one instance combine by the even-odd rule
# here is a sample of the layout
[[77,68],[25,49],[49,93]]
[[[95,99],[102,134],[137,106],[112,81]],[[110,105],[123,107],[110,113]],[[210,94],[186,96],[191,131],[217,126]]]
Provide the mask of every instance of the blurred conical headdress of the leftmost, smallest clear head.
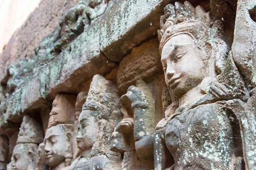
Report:
[[32,117],[25,115],[20,125],[17,144],[34,143],[40,144],[44,140],[43,127]]

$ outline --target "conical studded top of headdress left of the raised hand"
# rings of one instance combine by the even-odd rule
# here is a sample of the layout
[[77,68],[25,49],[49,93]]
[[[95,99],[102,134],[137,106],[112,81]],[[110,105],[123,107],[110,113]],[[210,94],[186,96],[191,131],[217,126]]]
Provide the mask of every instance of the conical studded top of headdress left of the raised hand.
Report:
[[95,111],[96,119],[110,119],[111,113],[117,110],[118,94],[116,86],[100,75],[95,75],[90,84],[90,91],[83,110]]

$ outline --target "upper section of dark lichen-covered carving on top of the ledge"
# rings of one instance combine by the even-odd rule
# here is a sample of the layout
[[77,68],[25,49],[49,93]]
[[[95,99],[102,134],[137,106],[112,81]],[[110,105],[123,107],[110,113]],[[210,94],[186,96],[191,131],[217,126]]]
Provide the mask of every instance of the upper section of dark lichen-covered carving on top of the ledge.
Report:
[[96,17],[105,12],[107,6],[108,0],[80,0],[67,11],[59,21],[59,26],[35,48],[38,60],[45,65],[60,54]]

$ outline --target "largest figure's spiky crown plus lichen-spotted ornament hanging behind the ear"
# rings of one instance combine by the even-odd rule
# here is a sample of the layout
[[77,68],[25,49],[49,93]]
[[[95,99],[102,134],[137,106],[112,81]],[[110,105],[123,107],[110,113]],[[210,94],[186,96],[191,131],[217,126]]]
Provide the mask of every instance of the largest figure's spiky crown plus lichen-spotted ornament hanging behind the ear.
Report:
[[164,15],[160,18],[160,30],[158,30],[160,54],[166,42],[177,34],[188,34],[198,48],[208,43],[212,49],[218,49],[217,53],[212,54],[215,66],[218,68],[217,72],[224,67],[228,49],[222,40],[221,20],[213,21],[209,12],[204,11],[201,6],[194,8],[187,1],[184,4],[179,2],[175,2],[175,5],[168,4],[164,8]]

